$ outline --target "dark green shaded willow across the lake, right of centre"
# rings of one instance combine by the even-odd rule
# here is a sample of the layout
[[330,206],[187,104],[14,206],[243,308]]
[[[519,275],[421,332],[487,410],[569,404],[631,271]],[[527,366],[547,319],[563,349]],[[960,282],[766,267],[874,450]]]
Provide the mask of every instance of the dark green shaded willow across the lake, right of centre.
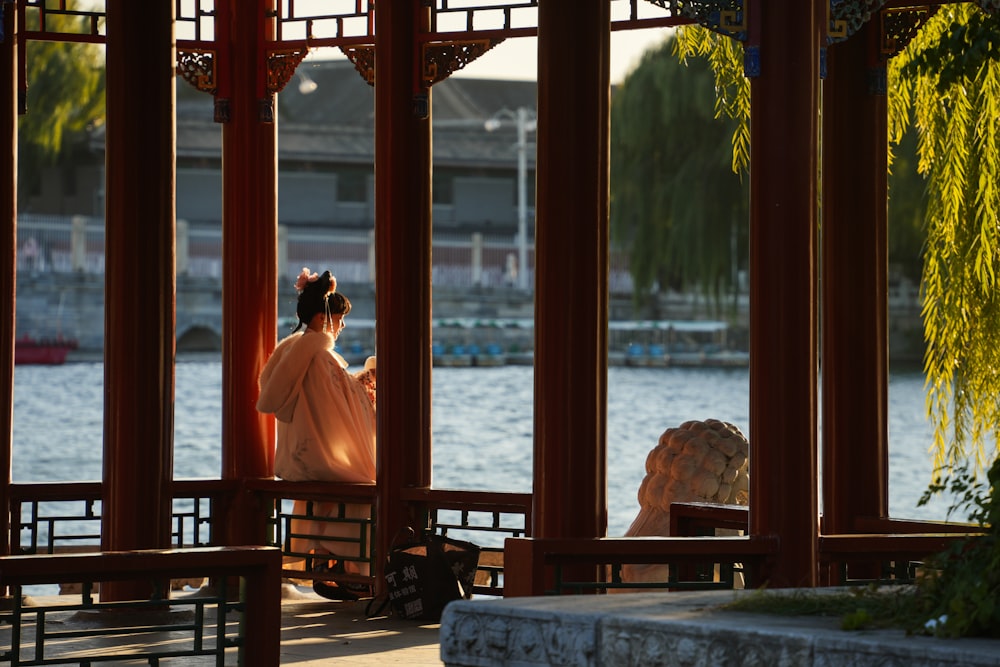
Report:
[[697,289],[735,295],[747,263],[748,187],[730,167],[734,121],[719,118],[707,62],[650,50],[611,106],[611,230],[628,249],[637,301]]

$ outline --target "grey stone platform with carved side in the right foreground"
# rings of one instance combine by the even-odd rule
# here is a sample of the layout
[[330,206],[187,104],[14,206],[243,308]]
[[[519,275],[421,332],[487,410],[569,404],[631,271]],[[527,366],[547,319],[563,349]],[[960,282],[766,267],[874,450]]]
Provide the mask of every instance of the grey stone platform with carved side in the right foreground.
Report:
[[1000,640],[844,631],[835,617],[725,611],[750,591],[483,599],[441,621],[449,667],[1000,666]]

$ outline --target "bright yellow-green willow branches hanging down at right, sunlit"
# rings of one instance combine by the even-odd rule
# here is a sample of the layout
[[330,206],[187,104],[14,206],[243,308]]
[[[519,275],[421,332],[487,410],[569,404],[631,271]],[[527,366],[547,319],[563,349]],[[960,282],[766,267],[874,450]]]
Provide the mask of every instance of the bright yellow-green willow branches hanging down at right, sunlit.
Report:
[[[742,49],[700,27],[678,29],[677,44],[712,63],[718,110],[737,121],[734,168],[748,168]],[[1000,16],[939,7],[887,75],[887,150],[915,129],[927,180],[921,300],[935,459],[978,471],[1000,441]]]

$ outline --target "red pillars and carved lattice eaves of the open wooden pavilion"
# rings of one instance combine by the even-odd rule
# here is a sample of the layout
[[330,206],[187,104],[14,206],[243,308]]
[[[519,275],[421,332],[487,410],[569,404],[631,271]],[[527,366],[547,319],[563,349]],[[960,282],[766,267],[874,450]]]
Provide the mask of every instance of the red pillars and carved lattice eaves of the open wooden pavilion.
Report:
[[[0,181],[2,248],[9,257],[16,253],[25,41],[103,43],[105,550],[170,543],[175,72],[214,95],[222,126],[223,317],[232,335],[222,352],[221,475],[241,485],[273,477],[273,423],[253,405],[276,342],[275,96],[317,46],[343,49],[374,86],[382,369],[375,552],[384,554],[398,530],[418,521],[415,499],[430,487],[430,98],[437,81],[498,40],[529,35],[538,38],[534,492],[528,546],[513,548],[530,554],[533,540],[561,539],[573,548],[605,537],[609,40],[612,30],[688,23],[743,43],[752,90],[752,502],[740,548],[762,556],[770,586],[814,587],[830,580],[828,568],[838,560],[824,545],[836,543],[840,560],[855,560],[873,544],[861,533],[907,532],[892,527],[886,483],[885,63],[940,2],[629,0],[629,16],[613,21],[607,0],[483,0],[463,8],[396,0],[378,3],[377,11],[373,0],[359,0],[338,15],[289,13],[292,3],[272,0],[216,0],[196,9],[172,0],[106,0],[76,12],[93,29],[74,35],[47,32],[44,22],[28,30],[35,24],[26,16],[44,18],[42,4],[56,3],[2,4],[0,81],[7,93],[0,133],[10,147]],[[59,7],[47,12],[68,11]],[[640,9],[650,7],[655,16],[645,18]],[[193,13],[176,15],[178,8]],[[494,23],[480,28],[488,16]],[[181,27],[193,38],[175,42]],[[15,281],[13,269],[0,277],[7,318],[0,392],[7,405]],[[0,443],[8,480],[11,420],[8,409]],[[9,502],[9,490],[0,493]],[[262,520],[248,494],[233,495],[215,525],[220,544],[262,543]],[[868,541],[851,542],[851,534]],[[605,544],[605,554],[629,548],[624,540]],[[674,544],[664,538],[657,548],[668,555]],[[693,544],[713,549],[708,540]],[[534,565],[508,568],[507,593],[542,590],[538,572]]]

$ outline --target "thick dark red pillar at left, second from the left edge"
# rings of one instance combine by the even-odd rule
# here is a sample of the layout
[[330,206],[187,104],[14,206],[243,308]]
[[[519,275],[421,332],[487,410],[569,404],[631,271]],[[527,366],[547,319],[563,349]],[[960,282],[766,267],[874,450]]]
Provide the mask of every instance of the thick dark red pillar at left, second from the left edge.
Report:
[[[102,547],[170,543],[174,417],[174,3],[107,3]],[[106,584],[103,599],[148,595]]]

